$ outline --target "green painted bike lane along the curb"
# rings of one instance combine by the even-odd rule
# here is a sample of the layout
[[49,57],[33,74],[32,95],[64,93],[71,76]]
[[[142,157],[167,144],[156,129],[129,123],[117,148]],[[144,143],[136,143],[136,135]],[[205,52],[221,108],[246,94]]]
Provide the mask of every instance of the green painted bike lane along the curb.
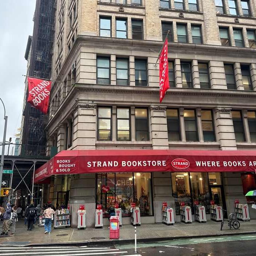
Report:
[[[148,242],[148,243],[137,243],[137,248],[145,247],[175,247],[180,245],[188,244],[198,244],[198,243],[218,243],[218,242],[228,242],[228,241],[243,241],[243,240],[255,240],[256,235],[232,235],[232,236],[215,236],[215,237],[203,237],[203,238],[184,238],[184,239],[174,239],[166,240],[160,242]],[[131,244],[116,244],[118,249],[129,249],[134,248],[134,243]]]

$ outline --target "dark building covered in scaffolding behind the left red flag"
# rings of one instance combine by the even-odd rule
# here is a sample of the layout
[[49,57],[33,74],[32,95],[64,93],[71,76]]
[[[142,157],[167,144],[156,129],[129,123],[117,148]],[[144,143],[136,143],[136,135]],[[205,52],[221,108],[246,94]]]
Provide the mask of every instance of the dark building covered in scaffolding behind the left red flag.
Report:
[[[28,57],[28,46],[25,58],[28,60],[28,76],[50,79],[52,44],[54,40],[54,20],[55,20],[56,1],[37,0],[35,15],[33,18],[33,36],[28,41],[30,58]],[[31,44],[31,45],[30,45]],[[31,48],[30,48],[31,47]],[[27,81],[25,82],[27,84]],[[45,125],[48,116],[27,103],[28,87],[25,87],[22,141],[20,155],[45,155],[46,133]]]

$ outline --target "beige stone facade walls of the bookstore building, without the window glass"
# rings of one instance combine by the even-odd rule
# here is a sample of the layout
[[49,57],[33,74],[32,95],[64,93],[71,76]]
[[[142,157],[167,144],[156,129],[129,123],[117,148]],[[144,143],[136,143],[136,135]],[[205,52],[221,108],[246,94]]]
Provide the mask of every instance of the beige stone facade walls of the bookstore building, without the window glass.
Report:
[[[111,3],[110,3],[111,2]],[[137,2],[137,1],[136,1]],[[225,14],[216,14],[214,0],[197,0],[197,11],[190,11],[188,0],[184,10],[160,8],[160,1],[142,0],[141,5],[115,3],[115,0],[58,0],[52,79],[59,81],[51,90],[47,145],[61,150],[79,149],[202,149],[255,150],[247,111],[256,111],[256,49],[249,47],[247,32],[256,29],[256,4],[249,0],[250,17],[243,15],[241,0],[237,14],[231,15],[228,1],[223,1]],[[110,37],[100,36],[100,17],[110,19]],[[127,38],[116,38],[116,19],[126,19]],[[133,39],[133,20],[143,24],[143,40]],[[169,88],[159,104],[159,65],[155,65],[163,44],[162,22],[170,23],[169,61],[173,62],[174,87]],[[179,42],[177,25],[186,26],[187,42]],[[200,26],[202,44],[193,43],[192,27]],[[230,46],[222,46],[219,27],[228,29]],[[237,47],[233,29],[241,29],[244,47]],[[98,84],[97,58],[109,58],[109,84]],[[128,59],[128,86],[117,84],[118,58]],[[146,85],[136,86],[136,61],[146,61]],[[184,86],[181,63],[190,64],[191,88]],[[198,63],[208,67],[209,88],[201,88]],[[228,89],[225,66],[233,65],[236,90]],[[248,67],[251,90],[244,88],[241,67]],[[245,84],[246,85],[246,84]],[[247,88],[247,87],[246,87]],[[112,108],[111,141],[98,140],[99,106]],[[116,138],[116,108],[130,111],[130,140]],[[148,141],[136,140],[135,109],[148,113]],[[168,140],[166,109],[177,109],[180,140]],[[184,110],[195,110],[197,141],[186,138]],[[202,110],[211,110],[214,141],[204,140]],[[242,113],[244,141],[235,137],[232,111]],[[255,132],[255,131],[254,131]],[[48,151],[50,152],[50,151]],[[241,174],[223,173],[227,210],[232,211],[235,198],[245,202]],[[55,178],[56,179],[56,178]],[[54,183],[55,184],[55,183]],[[94,216],[96,175],[73,175],[70,183],[70,205],[86,203],[88,216]],[[51,200],[56,202],[60,180],[52,187]],[[69,188],[68,188],[69,190]],[[152,173],[154,216],[143,217],[143,223],[161,222],[161,203],[174,207],[170,173]],[[73,211],[73,210],[72,210]],[[177,217],[178,219],[178,217]],[[73,221],[75,225],[76,221]],[[126,222],[129,222],[128,220]],[[104,220],[105,223],[105,220]],[[93,217],[88,220],[93,225]]]

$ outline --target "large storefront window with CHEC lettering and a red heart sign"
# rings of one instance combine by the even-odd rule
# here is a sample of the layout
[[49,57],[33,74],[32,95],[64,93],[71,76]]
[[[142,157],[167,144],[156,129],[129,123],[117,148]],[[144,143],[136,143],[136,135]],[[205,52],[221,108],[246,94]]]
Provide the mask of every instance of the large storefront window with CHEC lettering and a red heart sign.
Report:
[[[118,204],[122,217],[131,216],[131,204],[140,208],[141,216],[153,215],[151,173],[97,174],[96,204],[102,205],[103,217],[109,218],[109,209]],[[108,187],[105,192],[102,188]]]

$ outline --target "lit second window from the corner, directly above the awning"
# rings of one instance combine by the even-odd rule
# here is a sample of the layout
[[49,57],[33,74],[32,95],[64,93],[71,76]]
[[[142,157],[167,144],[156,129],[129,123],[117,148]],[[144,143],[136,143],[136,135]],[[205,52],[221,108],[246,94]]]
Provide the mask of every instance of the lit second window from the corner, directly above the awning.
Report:
[[130,139],[130,109],[116,109],[116,140],[129,141]]

